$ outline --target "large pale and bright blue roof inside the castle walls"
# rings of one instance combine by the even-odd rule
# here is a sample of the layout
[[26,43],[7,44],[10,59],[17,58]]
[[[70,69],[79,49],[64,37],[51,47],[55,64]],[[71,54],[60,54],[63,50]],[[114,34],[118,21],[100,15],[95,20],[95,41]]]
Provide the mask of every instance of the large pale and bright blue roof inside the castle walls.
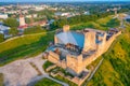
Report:
[[84,35],[82,33],[68,31],[68,32],[61,32],[56,34],[56,37],[58,38],[60,43],[63,43],[63,44],[72,43],[79,47],[83,47]]

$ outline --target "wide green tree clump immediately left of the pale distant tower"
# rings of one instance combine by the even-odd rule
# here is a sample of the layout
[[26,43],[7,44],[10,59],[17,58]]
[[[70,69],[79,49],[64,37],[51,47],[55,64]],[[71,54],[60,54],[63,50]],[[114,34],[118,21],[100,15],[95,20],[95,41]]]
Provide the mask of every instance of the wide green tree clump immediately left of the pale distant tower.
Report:
[[18,27],[18,22],[15,18],[6,18],[3,20],[3,24],[9,26],[9,27]]

